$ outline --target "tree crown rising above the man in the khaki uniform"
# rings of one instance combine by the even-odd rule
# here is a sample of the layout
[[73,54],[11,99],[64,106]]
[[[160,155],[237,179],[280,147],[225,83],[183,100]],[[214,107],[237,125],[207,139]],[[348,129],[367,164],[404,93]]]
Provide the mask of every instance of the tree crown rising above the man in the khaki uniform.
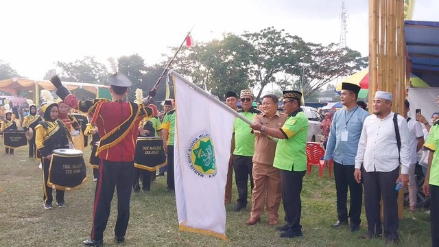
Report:
[[242,37],[254,47],[250,54],[250,74],[260,88],[256,97],[259,100],[264,87],[275,81],[276,73],[283,71],[287,62],[285,54],[292,51],[290,40],[293,37],[286,34],[285,30],[278,31],[274,27],[267,27],[260,32],[244,32]]

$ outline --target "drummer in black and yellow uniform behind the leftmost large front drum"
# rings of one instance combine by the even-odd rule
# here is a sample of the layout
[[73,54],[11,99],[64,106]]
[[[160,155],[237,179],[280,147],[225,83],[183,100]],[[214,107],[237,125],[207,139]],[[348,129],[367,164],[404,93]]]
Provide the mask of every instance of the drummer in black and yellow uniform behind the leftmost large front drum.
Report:
[[[69,141],[71,141],[70,132],[67,130],[58,116],[58,104],[45,104],[41,106],[44,111],[44,120],[40,121],[35,127],[35,143],[38,148],[43,164],[44,174],[44,208],[53,209],[52,207],[52,188],[47,186],[49,178],[49,166],[52,152],[59,148],[69,148]],[[64,202],[64,191],[56,190],[56,204],[58,207],[66,207]]]

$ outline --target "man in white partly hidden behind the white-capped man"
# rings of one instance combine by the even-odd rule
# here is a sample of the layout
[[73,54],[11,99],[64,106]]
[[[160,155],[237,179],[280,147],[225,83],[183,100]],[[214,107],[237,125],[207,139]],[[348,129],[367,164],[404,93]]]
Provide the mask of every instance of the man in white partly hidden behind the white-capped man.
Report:
[[410,102],[405,99],[405,120],[407,121],[407,126],[409,127],[410,135],[410,167],[409,167],[409,198],[410,198],[410,212],[414,213],[416,208],[416,178],[414,176],[414,171],[416,168],[417,153],[423,148],[424,145],[424,132],[423,127],[416,119],[412,119],[407,116],[410,112]]

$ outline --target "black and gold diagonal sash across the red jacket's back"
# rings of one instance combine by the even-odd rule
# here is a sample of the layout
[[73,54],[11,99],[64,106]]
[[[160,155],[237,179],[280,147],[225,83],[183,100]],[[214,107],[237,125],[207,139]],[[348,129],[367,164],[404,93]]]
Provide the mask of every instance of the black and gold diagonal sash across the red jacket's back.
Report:
[[[130,130],[134,127],[134,123],[136,122],[137,117],[139,117],[140,107],[138,104],[134,104],[130,102],[131,107],[131,116],[126,119],[121,125],[117,126],[114,130],[111,130],[104,137],[101,137],[101,142],[99,143],[99,147],[97,148],[96,155],[99,152],[107,150],[115,146],[117,143],[121,142],[123,138],[130,132]],[[96,112],[95,112],[96,113]],[[93,116],[94,118],[94,116]]]

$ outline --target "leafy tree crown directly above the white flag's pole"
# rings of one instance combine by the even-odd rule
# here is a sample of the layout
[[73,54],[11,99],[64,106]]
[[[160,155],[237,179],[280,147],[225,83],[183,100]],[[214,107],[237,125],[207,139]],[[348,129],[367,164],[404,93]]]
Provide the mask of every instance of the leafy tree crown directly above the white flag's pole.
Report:
[[252,53],[253,47],[246,40],[235,34],[224,34],[222,40],[182,49],[172,67],[219,99],[224,99],[227,91],[239,92],[251,84]]

